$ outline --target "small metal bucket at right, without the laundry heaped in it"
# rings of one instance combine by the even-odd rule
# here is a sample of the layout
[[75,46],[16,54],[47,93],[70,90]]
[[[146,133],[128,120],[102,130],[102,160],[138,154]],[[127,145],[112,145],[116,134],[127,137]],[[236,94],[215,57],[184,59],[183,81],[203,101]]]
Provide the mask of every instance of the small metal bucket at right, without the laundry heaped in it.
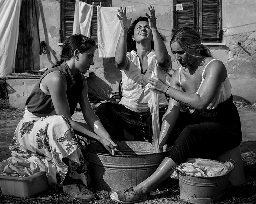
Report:
[[214,203],[221,200],[227,191],[231,173],[223,176],[199,177],[178,172],[180,198],[196,204]]

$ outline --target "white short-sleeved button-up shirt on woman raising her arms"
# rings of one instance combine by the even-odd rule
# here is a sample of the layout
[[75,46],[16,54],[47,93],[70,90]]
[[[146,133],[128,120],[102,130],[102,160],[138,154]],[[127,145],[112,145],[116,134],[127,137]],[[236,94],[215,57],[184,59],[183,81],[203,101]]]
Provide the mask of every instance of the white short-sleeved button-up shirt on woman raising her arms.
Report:
[[[156,70],[157,77],[165,82],[166,72],[158,66],[154,50],[151,50],[147,55],[148,67],[145,74],[141,74],[140,60],[134,50],[127,52],[126,57],[129,62],[127,68],[121,70],[123,97],[119,104],[136,112],[149,111],[147,103],[151,96],[148,89],[148,86],[150,86],[150,84],[148,84],[148,79],[152,76],[152,72]],[[165,94],[159,92],[159,108],[165,105],[168,105],[168,102],[165,99]]]

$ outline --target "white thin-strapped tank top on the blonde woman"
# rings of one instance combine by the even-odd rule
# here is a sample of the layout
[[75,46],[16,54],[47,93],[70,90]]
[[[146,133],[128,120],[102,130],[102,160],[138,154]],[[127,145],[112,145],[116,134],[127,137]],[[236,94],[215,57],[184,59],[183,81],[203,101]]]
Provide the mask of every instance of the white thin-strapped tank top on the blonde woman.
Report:
[[[203,69],[203,72],[202,72],[202,81],[201,81],[201,84],[199,86],[199,88],[197,89],[196,93],[195,94],[198,94],[202,84],[203,84],[203,81],[204,81],[204,78],[203,78],[203,75],[204,75],[204,72],[205,72],[205,69],[207,67],[207,65],[212,62],[213,60],[218,60],[218,59],[212,59],[210,60],[204,67]],[[180,91],[182,91],[182,88],[181,88],[181,67],[179,68],[179,84],[180,84]],[[219,87],[219,90],[217,91],[216,93],[216,96],[214,97],[214,99],[212,100],[212,102],[207,106],[207,109],[210,110],[210,109],[214,109],[217,107],[217,105],[223,101],[226,101],[230,96],[231,96],[231,84],[229,82],[229,78],[228,78],[228,75],[226,77],[226,79],[221,83],[221,86]]]

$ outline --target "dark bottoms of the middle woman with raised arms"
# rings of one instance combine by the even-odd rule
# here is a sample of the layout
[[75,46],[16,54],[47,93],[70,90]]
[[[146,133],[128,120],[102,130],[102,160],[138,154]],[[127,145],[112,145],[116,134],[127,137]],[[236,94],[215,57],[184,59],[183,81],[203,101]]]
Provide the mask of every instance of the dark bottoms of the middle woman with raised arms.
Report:
[[[167,107],[159,109],[160,125],[166,109]],[[152,117],[150,111],[135,112],[121,104],[102,103],[95,113],[112,140],[152,142]]]

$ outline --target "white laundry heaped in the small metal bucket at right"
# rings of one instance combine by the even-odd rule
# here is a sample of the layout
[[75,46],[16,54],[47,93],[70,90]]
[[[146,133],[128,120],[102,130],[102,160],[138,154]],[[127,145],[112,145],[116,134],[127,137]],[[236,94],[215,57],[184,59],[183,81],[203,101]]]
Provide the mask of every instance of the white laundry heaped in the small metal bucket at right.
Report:
[[[177,170],[180,170],[183,173],[199,177],[223,176],[232,171],[233,168],[234,165],[230,161],[223,164],[210,159],[195,159],[194,163],[185,162],[176,167]],[[171,174],[171,178],[179,178],[177,171],[174,171]]]

